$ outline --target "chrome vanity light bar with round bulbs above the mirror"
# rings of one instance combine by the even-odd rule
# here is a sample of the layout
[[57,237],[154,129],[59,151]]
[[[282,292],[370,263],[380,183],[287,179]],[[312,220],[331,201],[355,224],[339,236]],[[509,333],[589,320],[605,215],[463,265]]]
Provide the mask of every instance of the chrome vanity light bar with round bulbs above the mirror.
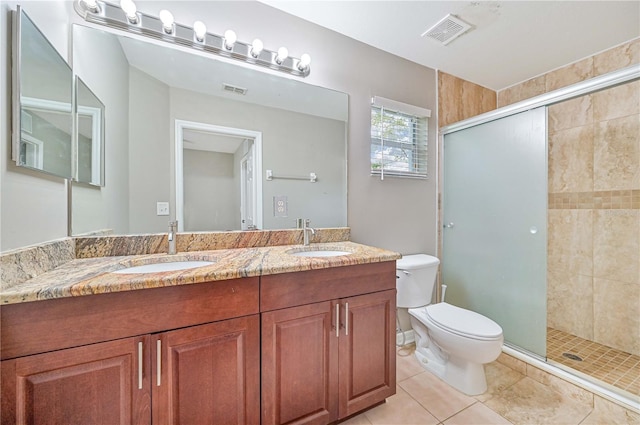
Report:
[[[235,33],[230,30],[225,32],[226,39],[224,36],[210,32],[205,32],[202,36],[204,24],[200,21],[194,23],[195,29],[177,22],[169,25],[167,18],[171,14],[167,11],[162,11],[163,22],[159,17],[137,11],[132,0],[124,0],[122,3],[126,3],[126,13],[123,10],[124,6],[100,0],[76,0],[74,8],[87,22],[145,35],[156,40],[179,44],[299,77],[306,77],[311,72],[311,58],[308,54],[297,59],[288,56],[287,49],[284,47],[278,51],[267,50],[257,39],[253,44],[243,43],[236,40]],[[173,21],[173,16],[170,21]],[[204,28],[206,31],[206,27]]]

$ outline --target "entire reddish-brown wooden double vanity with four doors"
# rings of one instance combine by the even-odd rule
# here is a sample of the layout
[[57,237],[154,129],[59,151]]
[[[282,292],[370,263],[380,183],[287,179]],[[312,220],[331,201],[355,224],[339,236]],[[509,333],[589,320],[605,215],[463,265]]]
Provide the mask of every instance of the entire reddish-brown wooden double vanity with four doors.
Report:
[[257,250],[255,276],[3,305],[2,423],[320,424],[393,395],[397,254]]

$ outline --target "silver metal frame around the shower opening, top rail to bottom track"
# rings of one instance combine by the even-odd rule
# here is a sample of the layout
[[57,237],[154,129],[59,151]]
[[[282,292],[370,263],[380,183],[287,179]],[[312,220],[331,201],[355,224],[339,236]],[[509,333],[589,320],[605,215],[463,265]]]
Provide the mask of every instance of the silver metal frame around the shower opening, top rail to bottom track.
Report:
[[[613,71],[598,77],[591,78],[567,87],[563,87],[558,90],[554,90],[549,93],[545,93],[539,96],[532,97],[521,102],[517,102],[511,105],[504,106],[502,108],[490,111],[475,117],[459,121],[454,124],[450,124],[441,127],[438,131],[438,172],[437,172],[437,187],[438,187],[438,211],[437,211],[437,235],[438,235],[438,255],[443,252],[444,233],[443,233],[443,214],[442,214],[442,194],[444,189],[444,136],[456,131],[464,130],[467,128],[475,127],[477,125],[485,124],[491,121],[495,121],[501,118],[509,117],[521,112],[529,111],[531,109],[546,107],[564,102],[570,99],[578,98],[584,95],[595,93],[601,90],[610,89],[612,87],[630,83],[636,80],[640,80],[640,64],[631,65],[629,67]],[[444,259],[443,259],[444,260]],[[440,279],[442,275],[440,275]],[[437,299],[441,299],[441,286],[437,285]],[[626,400],[625,397],[618,393],[615,393],[609,389],[603,388],[588,379],[584,379],[576,376],[570,372],[560,369],[557,366],[551,365],[546,360],[540,359],[538,356],[521,349],[520,347],[507,345],[509,354],[515,357],[521,357],[522,360],[530,361],[536,366],[542,369],[548,369],[547,371],[556,375],[561,375],[570,381],[575,381],[578,385],[589,388],[592,392],[599,394],[605,398],[615,399],[623,404],[633,407],[633,401]]]

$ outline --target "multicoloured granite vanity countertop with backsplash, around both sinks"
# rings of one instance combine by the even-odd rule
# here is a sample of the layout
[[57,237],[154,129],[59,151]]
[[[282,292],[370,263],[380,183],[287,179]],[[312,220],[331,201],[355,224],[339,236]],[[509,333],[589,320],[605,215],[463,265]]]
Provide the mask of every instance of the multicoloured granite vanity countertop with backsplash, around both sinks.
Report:
[[[335,232],[334,232],[335,230]],[[302,247],[300,230],[180,233],[178,254],[166,254],[166,235],[68,238],[76,241],[66,250],[64,260],[50,261],[29,274],[27,266],[33,254],[3,254],[2,305],[136,289],[187,285],[241,277],[298,272],[329,267],[393,261],[400,254],[380,248],[348,242],[349,229],[321,229],[312,247],[348,251],[337,257],[305,258],[287,253]],[[345,239],[346,236],[346,239]],[[127,246],[126,239],[132,241]],[[161,240],[164,239],[164,240]],[[159,241],[160,240],[160,241]],[[93,245],[91,244],[93,241]],[[68,246],[68,242],[64,241]],[[68,251],[75,248],[75,258]],[[40,246],[31,249],[42,249]],[[26,251],[29,251],[28,249]],[[58,252],[58,251],[56,251]],[[62,255],[62,254],[61,254]],[[7,258],[5,258],[5,256]],[[18,263],[11,265],[10,261]],[[213,261],[214,264],[187,270],[144,274],[116,274],[113,271],[136,265],[168,261]],[[5,273],[5,262],[15,272]],[[19,264],[22,262],[22,264]],[[19,272],[23,270],[22,272]],[[6,275],[6,280],[5,280]],[[19,276],[18,276],[19,275]],[[26,278],[26,279],[25,279]]]

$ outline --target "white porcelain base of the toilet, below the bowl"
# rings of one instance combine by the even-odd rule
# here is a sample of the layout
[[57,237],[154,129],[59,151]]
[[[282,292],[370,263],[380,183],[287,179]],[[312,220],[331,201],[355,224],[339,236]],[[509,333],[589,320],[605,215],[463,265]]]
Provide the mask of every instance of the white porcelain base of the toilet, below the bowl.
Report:
[[444,362],[429,349],[416,350],[420,366],[466,395],[480,395],[487,391],[484,365],[449,357]]

